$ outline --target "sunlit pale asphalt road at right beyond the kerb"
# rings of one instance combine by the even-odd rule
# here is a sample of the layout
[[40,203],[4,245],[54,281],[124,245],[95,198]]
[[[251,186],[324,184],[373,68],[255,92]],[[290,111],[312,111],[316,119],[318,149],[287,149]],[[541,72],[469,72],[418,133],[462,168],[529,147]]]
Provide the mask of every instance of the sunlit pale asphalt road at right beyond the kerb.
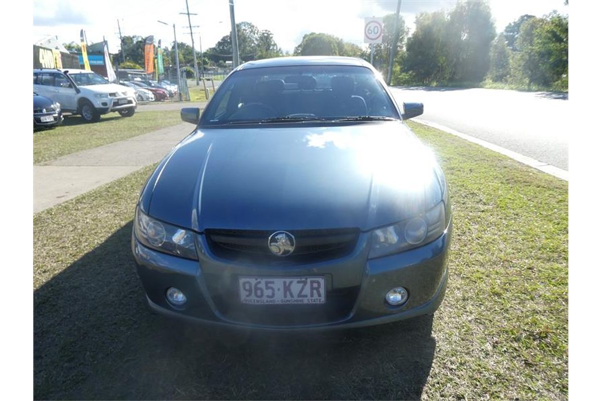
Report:
[[397,102],[422,102],[416,120],[568,171],[568,94],[495,89],[391,88]]

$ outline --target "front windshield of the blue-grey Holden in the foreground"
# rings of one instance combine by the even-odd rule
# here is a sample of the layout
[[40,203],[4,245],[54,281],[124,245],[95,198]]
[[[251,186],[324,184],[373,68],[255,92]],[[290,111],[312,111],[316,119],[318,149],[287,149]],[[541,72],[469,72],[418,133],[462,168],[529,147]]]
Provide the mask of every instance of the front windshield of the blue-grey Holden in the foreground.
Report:
[[399,120],[374,73],[360,66],[243,69],[220,85],[202,125],[282,121]]

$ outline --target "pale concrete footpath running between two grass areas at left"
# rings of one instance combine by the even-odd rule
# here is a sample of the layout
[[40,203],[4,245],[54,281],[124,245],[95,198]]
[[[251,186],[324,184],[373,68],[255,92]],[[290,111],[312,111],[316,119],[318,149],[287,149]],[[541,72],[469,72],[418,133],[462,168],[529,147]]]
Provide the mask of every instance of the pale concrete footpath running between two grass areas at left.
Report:
[[34,213],[160,161],[193,129],[180,123],[34,165]]

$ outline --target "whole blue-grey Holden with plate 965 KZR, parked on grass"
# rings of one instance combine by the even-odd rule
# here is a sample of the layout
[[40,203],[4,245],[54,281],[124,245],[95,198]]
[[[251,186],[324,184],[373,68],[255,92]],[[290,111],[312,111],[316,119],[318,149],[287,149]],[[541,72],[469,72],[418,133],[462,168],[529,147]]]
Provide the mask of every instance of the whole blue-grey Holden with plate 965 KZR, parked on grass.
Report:
[[132,252],[152,310],[256,329],[432,314],[452,213],[433,153],[363,60],[250,61],[144,185]]

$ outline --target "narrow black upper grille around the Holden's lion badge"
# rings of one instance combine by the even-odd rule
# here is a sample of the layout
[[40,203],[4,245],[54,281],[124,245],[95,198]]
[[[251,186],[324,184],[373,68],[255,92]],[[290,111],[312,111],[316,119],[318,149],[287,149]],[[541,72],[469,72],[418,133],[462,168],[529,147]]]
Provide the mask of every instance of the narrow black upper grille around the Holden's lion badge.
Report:
[[358,228],[288,231],[295,237],[295,249],[289,256],[275,256],[268,248],[274,231],[205,230],[211,251],[226,259],[272,259],[284,262],[329,260],[349,254],[358,240]]

